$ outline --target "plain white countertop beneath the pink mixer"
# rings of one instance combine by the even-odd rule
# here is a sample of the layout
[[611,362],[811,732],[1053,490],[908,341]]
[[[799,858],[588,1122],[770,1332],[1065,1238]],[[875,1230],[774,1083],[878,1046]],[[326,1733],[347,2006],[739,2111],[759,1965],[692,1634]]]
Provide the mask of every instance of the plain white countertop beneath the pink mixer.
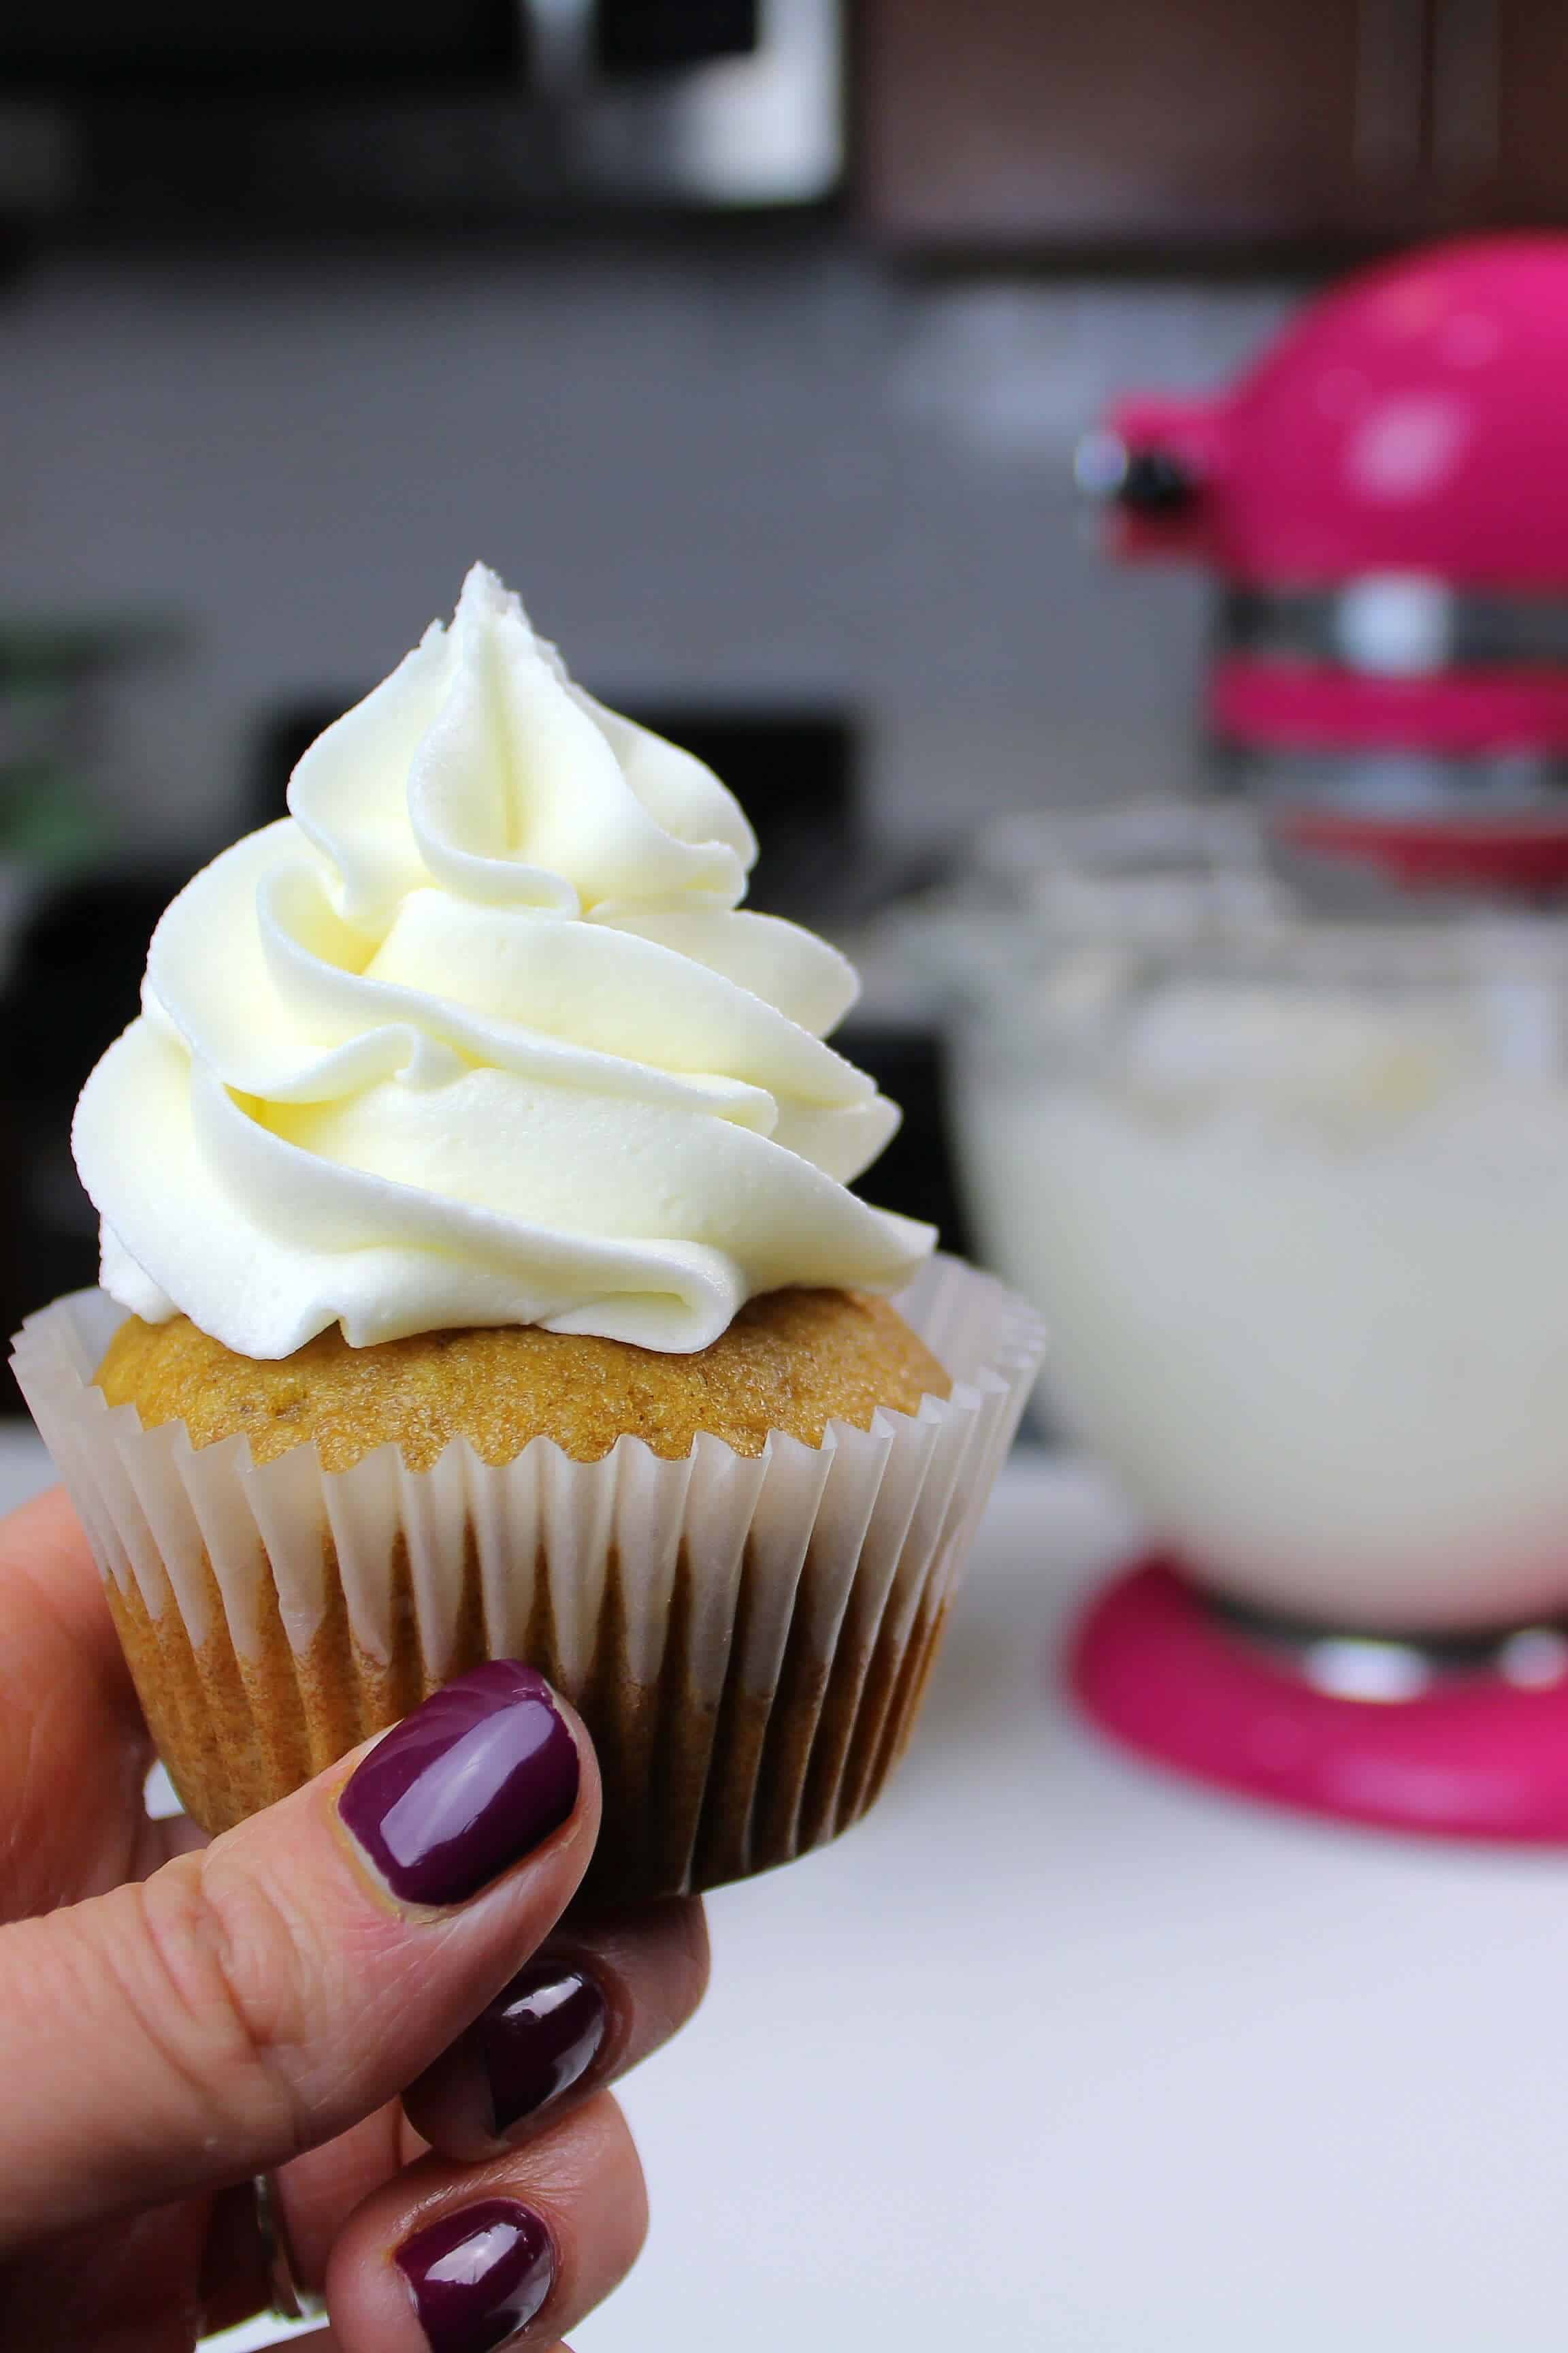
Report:
[[[35,1482],[0,1442],[0,1504]],[[708,2007],[625,2092],[649,2249],[578,2353],[1559,2353],[1568,1854],[1105,1748],[1046,1654],[1124,1541],[1016,1457],[891,1793],[712,1899]]]

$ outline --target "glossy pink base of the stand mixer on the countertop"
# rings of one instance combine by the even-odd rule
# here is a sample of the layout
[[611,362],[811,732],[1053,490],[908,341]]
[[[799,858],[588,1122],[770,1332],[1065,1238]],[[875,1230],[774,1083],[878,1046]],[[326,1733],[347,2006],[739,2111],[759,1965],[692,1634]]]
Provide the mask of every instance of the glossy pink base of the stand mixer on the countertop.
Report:
[[1568,1680],[1335,1699],[1227,1631],[1168,1562],[1143,1560],[1079,1621],[1070,1682],[1126,1748],[1248,1798],[1436,1838],[1568,1845]]

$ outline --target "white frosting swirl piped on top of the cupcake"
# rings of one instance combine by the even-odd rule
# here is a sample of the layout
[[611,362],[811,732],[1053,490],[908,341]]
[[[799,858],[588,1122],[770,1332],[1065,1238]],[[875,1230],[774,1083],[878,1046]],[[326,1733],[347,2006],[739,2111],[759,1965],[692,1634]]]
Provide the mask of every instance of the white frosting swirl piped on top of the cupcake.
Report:
[[153,934],[75,1158],[103,1285],[254,1358],[538,1322],[705,1348],[755,1292],[896,1289],[931,1228],[846,1184],[898,1111],[856,995],[738,911],[717,776],[571,685],[475,567]]

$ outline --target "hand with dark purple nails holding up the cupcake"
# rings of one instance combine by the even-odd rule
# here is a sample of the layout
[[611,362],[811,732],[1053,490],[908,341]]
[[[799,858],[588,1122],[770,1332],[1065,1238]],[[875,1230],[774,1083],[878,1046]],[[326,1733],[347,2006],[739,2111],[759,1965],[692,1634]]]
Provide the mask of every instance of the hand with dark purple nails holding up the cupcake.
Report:
[[696,1904],[562,1925],[581,1722],[480,1668],[212,1845],[148,1819],[148,1765],[45,1494],[0,1522],[0,2344],[186,2353],[263,2308],[277,2167],[308,2346],[487,2353],[522,2313],[555,2344],[644,2233],[604,2085],[708,1972]]

